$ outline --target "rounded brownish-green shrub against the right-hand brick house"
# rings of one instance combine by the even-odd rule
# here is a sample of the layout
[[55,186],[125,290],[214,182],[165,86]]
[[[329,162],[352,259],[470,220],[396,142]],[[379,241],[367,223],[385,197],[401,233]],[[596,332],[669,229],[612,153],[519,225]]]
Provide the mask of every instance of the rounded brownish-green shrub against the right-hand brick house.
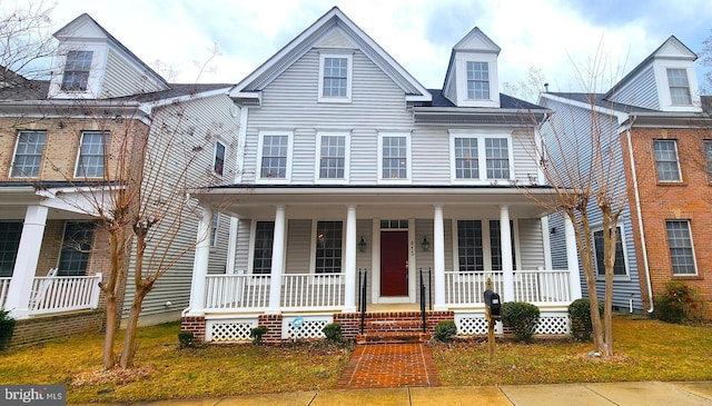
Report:
[[698,290],[679,280],[668,283],[665,291],[655,298],[655,317],[668,323],[684,323],[700,318],[702,301]]

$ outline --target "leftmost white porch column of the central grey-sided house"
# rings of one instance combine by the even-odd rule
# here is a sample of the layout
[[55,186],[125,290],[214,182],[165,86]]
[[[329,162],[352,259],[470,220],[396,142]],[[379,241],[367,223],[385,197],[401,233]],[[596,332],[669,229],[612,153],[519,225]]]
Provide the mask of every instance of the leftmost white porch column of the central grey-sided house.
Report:
[[192,259],[192,280],[190,283],[190,307],[184,316],[202,316],[205,314],[205,288],[210,260],[210,224],[212,211],[202,208],[198,234],[196,237],[196,256]]

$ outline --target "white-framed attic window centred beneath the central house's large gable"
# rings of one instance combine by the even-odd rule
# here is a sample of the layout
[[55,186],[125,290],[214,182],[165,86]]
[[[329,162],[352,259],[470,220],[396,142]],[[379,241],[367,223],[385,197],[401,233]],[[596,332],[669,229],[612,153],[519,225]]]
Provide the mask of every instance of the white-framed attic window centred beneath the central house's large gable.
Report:
[[352,99],[350,55],[319,57],[319,101],[348,102]]

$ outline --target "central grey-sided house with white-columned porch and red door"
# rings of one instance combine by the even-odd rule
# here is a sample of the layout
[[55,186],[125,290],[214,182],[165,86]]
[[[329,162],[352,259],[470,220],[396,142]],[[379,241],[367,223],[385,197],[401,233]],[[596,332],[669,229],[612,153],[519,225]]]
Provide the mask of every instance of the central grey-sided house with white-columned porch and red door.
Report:
[[566,333],[577,270],[552,270],[527,197],[552,196],[533,147],[548,110],[500,92],[498,55],[475,28],[426,89],[334,8],[235,86],[239,176],[199,196],[238,219],[233,264],[210,274],[198,248],[184,329],[280,339],[338,321],[353,337],[359,310],[408,317],[424,300],[428,328],[481,334],[490,278],[542,307],[541,333]]

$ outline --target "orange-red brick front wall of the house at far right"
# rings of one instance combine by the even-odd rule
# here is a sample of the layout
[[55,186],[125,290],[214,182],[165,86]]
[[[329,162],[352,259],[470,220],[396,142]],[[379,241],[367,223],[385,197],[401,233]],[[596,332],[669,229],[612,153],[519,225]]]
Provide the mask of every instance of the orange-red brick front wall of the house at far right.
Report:
[[[653,296],[664,290],[670,280],[684,280],[694,286],[706,305],[706,318],[712,318],[712,250],[708,249],[712,237],[712,184],[706,172],[703,140],[712,139],[710,129],[661,129],[634,128],[632,133],[640,205],[645,232],[645,245],[651,274]],[[681,182],[659,182],[655,167],[653,141],[675,140],[682,172]],[[623,139],[623,154],[627,156],[627,145]],[[627,179],[632,179],[631,165],[625,162]],[[637,228],[637,212],[632,181],[627,188],[631,217],[634,224],[633,237],[640,264],[641,291],[649,301],[643,268],[642,244]],[[690,220],[698,275],[676,276],[672,274],[670,246],[665,220]]]

